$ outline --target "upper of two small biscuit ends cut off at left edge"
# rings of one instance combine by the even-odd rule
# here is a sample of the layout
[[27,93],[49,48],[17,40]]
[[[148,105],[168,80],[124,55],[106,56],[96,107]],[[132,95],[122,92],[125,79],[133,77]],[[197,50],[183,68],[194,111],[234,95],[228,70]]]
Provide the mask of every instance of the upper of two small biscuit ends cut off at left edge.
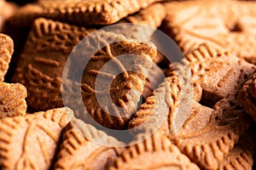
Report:
[[14,42],[11,37],[0,34],[0,82],[9,69],[9,62],[14,53]]

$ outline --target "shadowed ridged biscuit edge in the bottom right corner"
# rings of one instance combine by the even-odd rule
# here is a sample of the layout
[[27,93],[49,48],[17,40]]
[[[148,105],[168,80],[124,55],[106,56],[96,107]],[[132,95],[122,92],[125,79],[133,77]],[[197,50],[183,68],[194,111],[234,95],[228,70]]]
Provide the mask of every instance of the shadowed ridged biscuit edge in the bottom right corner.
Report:
[[239,142],[224,161],[218,165],[218,170],[249,170],[253,167],[253,155],[255,148],[255,136],[253,131],[248,131],[241,136]]

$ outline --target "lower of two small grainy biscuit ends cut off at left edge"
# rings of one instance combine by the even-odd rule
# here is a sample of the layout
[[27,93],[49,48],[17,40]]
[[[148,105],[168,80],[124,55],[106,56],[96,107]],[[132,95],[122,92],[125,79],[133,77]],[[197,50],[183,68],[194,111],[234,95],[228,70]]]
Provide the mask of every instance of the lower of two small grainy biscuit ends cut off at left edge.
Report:
[[19,84],[0,82],[0,118],[26,115],[26,88]]

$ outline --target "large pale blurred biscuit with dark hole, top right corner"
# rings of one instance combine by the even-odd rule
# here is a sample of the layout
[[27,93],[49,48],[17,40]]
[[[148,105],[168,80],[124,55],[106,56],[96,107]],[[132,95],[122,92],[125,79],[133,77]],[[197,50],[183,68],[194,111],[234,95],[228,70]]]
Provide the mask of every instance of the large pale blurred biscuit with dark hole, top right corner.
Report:
[[255,2],[186,1],[165,6],[168,12],[164,30],[184,54],[207,42],[255,62]]

